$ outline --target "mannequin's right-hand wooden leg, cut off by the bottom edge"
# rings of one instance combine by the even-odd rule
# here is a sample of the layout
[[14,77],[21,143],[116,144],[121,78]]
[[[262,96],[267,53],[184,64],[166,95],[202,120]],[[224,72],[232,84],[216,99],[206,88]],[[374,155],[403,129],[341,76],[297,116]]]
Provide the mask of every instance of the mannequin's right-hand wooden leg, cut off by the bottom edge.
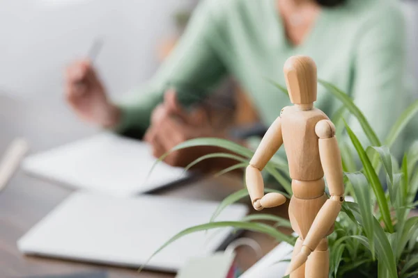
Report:
[[312,252],[306,263],[306,278],[328,278],[330,271],[330,252],[328,251],[328,240],[323,238],[316,250]]

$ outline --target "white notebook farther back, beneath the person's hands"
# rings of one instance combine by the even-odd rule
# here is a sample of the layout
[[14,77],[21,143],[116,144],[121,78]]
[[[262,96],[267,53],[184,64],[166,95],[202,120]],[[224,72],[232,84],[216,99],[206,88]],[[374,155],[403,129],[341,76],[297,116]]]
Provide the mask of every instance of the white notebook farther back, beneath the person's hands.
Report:
[[146,143],[100,133],[31,155],[22,166],[30,174],[72,188],[121,197],[155,190],[187,177],[182,168],[164,163],[158,163],[150,173],[155,161]]

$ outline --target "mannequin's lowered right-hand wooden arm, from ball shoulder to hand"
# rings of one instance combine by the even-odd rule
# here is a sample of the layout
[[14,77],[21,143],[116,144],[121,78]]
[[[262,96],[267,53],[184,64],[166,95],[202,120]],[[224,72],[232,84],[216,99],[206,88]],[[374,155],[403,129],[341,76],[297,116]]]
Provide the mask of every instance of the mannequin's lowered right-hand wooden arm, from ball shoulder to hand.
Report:
[[302,249],[292,260],[288,273],[303,265],[309,254],[318,247],[320,240],[327,236],[341,211],[341,204],[344,202],[343,168],[338,143],[334,136],[334,124],[330,120],[321,120],[316,124],[315,132],[319,137],[320,163],[323,166],[331,197],[327,199],[316,215],[314,223],[304,238]]

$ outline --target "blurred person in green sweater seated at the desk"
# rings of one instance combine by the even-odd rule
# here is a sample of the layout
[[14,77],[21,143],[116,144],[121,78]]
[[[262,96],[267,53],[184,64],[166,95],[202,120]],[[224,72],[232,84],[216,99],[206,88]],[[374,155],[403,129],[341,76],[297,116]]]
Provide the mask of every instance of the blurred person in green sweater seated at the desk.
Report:
[[[285,85],[286,59],[303,54],[316,61],[318,78],[347,92],[385,138],[408,102],[405,24],[398,5],[390,0],[205,0],[153,79],[123,102],[109,99],[88,60],[68,67],[66,97],[86,122],[119,133],[139,131],[159,157],[187,139],[227,138],[211,126],[203,109],[192,105],[226,76],[245,88],[269,126],[290,102],[268,80]],[[318,85],[316,107],[330,116],[339,106]],[[356,120],[350,118],[349,124],[364,141]],[[194,147],[165,161],[184,167],[217,151],[222,152]],[[211,159],[203,167],[229,163]]]

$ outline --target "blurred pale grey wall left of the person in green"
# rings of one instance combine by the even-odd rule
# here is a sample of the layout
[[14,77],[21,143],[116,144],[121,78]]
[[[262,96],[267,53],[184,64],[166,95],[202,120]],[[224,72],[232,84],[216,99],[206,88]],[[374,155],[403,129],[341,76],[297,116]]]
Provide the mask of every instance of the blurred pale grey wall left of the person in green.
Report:
[[95,64],[111,95],[148,79],[175,15],[196,0],[0,0],[0,93],[59,97],[63,69],[104,45]]

